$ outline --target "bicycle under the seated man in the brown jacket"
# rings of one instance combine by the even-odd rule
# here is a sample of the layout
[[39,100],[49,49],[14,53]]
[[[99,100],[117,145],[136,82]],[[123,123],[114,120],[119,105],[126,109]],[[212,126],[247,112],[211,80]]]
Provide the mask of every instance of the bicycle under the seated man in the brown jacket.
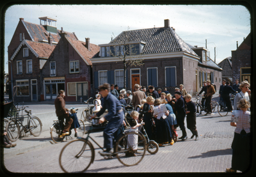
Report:
[[[77,111],[78,109],[76,109]],[[59,120],[53,120],[53,124],[50,127],[50,134],[51,134],[51,139],[54,143],[61,143],[62,141],[64,141],[64,138],[66,138],[66,140],[68,138],[73,139],[70,135],[72,134],[71,129],[69,130],[69,134],[67,136],[61,136],[61,132],[63,131],[63,127],[65,126],[65,122],[63,122],[63,125],[60,125],[60,121]],[[85,125],[83,120],[79,119],[78,120],[80,127],[77,129],[77,136],[78,137],[83,137],[85,134]]]

